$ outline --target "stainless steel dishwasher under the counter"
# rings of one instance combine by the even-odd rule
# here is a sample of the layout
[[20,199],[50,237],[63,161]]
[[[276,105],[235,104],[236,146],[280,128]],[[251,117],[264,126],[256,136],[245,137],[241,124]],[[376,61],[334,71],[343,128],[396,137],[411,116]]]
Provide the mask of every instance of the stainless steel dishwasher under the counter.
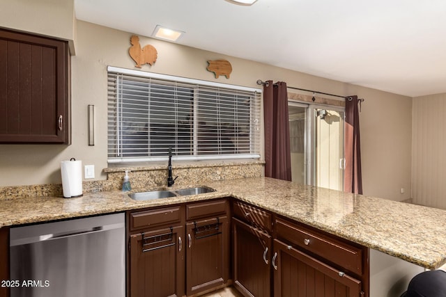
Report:
[[125,296],[125,216],[10,229],[11,297]]

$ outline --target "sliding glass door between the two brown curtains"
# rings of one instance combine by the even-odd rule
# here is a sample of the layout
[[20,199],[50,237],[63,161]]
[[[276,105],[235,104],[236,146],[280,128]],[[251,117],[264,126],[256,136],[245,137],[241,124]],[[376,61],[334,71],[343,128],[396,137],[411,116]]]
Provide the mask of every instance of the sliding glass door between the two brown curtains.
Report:
[[293,182],[342,191],[344,109],[289,102]]

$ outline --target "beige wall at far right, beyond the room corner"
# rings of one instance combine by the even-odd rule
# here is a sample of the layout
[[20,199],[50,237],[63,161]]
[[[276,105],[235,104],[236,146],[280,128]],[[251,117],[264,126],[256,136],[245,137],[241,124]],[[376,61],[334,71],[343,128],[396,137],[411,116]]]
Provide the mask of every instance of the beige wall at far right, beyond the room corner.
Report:
[[413,202],[446,209],[446,94],[413,98]]

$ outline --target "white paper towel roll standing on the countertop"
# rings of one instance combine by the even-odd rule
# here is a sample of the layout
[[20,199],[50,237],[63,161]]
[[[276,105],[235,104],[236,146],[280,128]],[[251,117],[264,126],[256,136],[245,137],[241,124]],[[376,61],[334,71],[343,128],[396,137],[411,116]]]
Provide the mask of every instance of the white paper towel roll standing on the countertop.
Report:
[[76,161],[74,158],[71,160],[61,161],[62,190],[64,198],[82,196],[82,161]]

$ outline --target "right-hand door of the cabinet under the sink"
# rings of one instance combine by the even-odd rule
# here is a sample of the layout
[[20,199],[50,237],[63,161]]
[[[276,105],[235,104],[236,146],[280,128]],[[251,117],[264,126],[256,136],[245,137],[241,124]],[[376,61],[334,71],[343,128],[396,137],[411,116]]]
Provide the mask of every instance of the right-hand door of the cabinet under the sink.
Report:
[[220,216],[187,223],[187,295],[227,282],[229,278],[228,218]]

